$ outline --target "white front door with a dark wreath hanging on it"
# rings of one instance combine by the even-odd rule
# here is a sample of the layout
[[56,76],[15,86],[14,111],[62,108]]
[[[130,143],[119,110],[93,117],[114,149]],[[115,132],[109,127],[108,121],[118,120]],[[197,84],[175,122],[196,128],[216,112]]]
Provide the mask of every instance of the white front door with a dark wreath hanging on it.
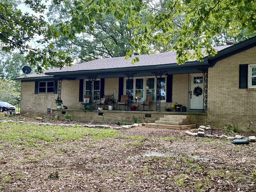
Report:
[[204,76],[202,73],[190,74],[190,90],[188,93],[190,109],[203,109]]

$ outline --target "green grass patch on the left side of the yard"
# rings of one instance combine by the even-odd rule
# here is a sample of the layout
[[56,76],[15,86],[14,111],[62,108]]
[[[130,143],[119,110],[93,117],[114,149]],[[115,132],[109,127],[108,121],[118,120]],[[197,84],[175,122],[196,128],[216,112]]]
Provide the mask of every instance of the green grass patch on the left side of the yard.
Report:
[[[91,138],[100,139],[102,137],[121,136],[116,130],[102,128],[48,126],[30,123],[8,122],[0,124],[0,140],[8,140],[18,145],[36,145],[35,142],[66,142],[69,140],[79,140],[83,136],[90,135]],[[49,144],[49,143],[48,143]],[[40,147],[40,144],[37,144]]]

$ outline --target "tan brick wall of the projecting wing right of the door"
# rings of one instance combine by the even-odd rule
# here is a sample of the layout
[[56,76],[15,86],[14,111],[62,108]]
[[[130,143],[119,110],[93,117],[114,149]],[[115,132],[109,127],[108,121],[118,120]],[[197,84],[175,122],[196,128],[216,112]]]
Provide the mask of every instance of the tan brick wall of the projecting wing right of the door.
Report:
[[[256,64],[256,47],[217,62],[208,72],[208,124],[222,129],[238,124],[246,130],[256,123],[256,89],[239,89],[239,64]],[[256,130],[252,124],[251,129]]]

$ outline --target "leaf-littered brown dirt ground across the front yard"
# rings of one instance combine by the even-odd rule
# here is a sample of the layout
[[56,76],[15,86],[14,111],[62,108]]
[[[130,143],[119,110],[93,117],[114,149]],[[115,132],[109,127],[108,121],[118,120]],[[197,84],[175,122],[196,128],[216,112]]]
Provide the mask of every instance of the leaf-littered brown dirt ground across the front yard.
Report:
[[1,141],[0,191],[256,192],[255,143],[235,145],[145,126],[117,131],[122,136],[85,135],[38,148]]

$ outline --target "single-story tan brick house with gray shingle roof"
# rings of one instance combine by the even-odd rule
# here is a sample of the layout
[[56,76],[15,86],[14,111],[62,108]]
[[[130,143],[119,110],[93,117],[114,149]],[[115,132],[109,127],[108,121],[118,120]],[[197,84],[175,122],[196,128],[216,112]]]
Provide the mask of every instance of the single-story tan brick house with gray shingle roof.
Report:
[[[140,61],[134,65],[132,58],[102,58],[27,74],[16,78],[22,87],[20,113],[31,108],[31,113],[43,116],[50,109],[51,115],[62,117],[68,112],[75,120],[98,122],[128,122],[134,114],[142,122],[154,122],[163,114],[189,114],[199,126],[222,129],[226,124],[238,124],[240,130],[246,130],[256,120],[256,37],[214,48],[218,51],[215,56],[182,65],[176,63],[176,52],[164,52],[135,55]],[[128,110],[124,106],[116,110],[114,105],[112,111],[103,110],[104,116],[97,110],[81,110],[85,95],[94,106],[104,95],[112,94],[116,100],[128,95]],[[147,95],[153,95],[150,110],[145,106],[143,111],[138,100],[146,100]],[[57,96],[68,109],[56,110]],[[138,110],[131,111],[131,106]],[[252,124],[250,129],[256,130],[254,127]]]

